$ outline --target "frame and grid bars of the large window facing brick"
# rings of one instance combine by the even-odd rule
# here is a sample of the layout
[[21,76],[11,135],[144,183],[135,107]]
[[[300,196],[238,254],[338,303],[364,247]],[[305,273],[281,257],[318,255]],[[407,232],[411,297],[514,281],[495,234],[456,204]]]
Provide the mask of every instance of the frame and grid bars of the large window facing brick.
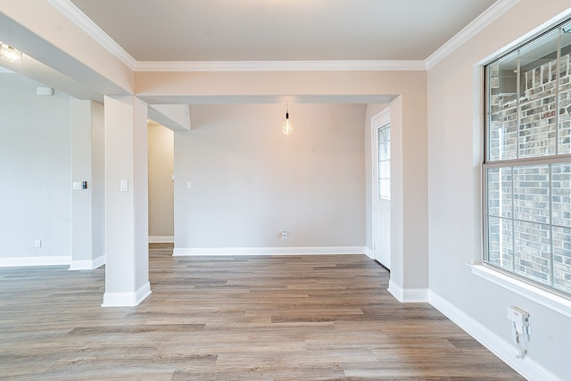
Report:
[[[509,51],[503,53],[503,54],[498,54],[497,56],[493,57],[490,60],[487,60],[486,62],[484,62],[481,66],[482,70],[480,70],[480,73],[483,77],[483,80],[481,81],[481,83],[483,84],[482,87],[482,96],[483,96],[483,100],[484,102],[482,103],[483,106],[483,110],[482,110],[482,115],[483,115],[483,134],[482,134],[482,138],[483,138],[483,145],[482,145],[482,153],[483,153],[483,157],[482,157],[482,167],[481,167],[481,186],[482,186],[482,254],[481,254],[481,260],[482,263],[479,265],[472,265],[472,271],[475,275],[479,276],[479,277],[484,277],[490,281],[492,281],[495,284],[501,285],[501,286],[505,286],[506,288],[509,288],[512,291],[517,292],[518,294],[522,294],[525,296],[529,296],[530,294],[533,294],[532,291],[530,290],[535,290],[537,293],[539,294],[549,294],[551,297],[550,298],[545,298],[544,296],[542,296],[543,300],[548,300],[547,304],[550,308],[556,310],[556,311],[564,311],[563,313],[567,314],[567,316],[571,317],[571,288],[568,289],[567,291],[567,287],[566,287],[566,291],[563,290],[559,290],[558,288],[555,288],[554,285],[554,281],[555,281],[555,271],[553,269],[553,261],[554,261],[554,251],[553,251],[553,227],[559,227],[559,225],[554,224],[553,220],[552,220],[552,214],[550,213],[550,220],[549,223],[547,224],[542,224],[542,225],[548,225],[550,227],[550,267],[551,267],[551,271],[550,271],[550,277],[551,277],[551,286],[544,284],[540,281],[535,281],[533,278],[531,277],[525,277],[522,274],[517,273],[515,270],[514,271],[509,271],[509,269],[505,269],[502,268],[499,265],[493,264],[490,261],[490,253],[489,253],[489,248],[490,248],[490,236],[489,236],[489,228],[490,228],[490,218],[491,217],[495,217],[490,215],[489,213],[489,208],[490,208],[490,199],[489,199],[489,194],[488,194],[488,170],[493,169],[493,168],[510,168],[512,170],[512,174],[515,168],[520,167],[520,166],[538,166],[538,165],[548,165],[549,166],[549,203],[550,203],[550,211],[551,211],[551,203],[553,202],[552,199],[552,178],[551,178],[551,168],[553,164],[557,164],[557,163],[569,163],[571,164],[571,152],[570,153],[559,153],[559,109],[561,107],[560,105],[560,70],[559,70],[559,65],[561,64],[561,51],[562,51],[562,37],[564,35],[564,33],[567,33],[567,31],[564,29],[564,27],[568,27],[569,25],[571,25],[571,18],[567,18],[563,21],[560,21],[559,23],[555,24],[554,26],[550,27],[549,29],[544,30],[542,33],[537,34],[534,37],[528,38],[525,41],[522,41],[520,43],[518,43],[516,46],[512,46]],[[531,44],[534,43],[534,41],[540,40],[542,37],[546,37],[548,36],[550,33],[554,33],[555,31],[557,32],[557,51],[555,52],[556,54],[556,58],[555,60],[557,61],[556,63],[556,87],[554,89],[554,92],[552,95],[550,96],[554,96],[555,97],[555,130],[556,130],[556,136],[555,136],[555,153],[554,154],[550,154],[550,155],[545,155],[545,156],[534,156],[534,157],[520,157],[520,120],[521,120],[521,116],[520,116],[520,98],[522,96],[522,92],[521,92],[521,71],[520,71],[520,51],[522,51],[523,49],[525,49],[525,46],[530,46]],[[492,120],[491,120],[491,104],[490,104],[490,100],[491,100],[491,84],[490,84],[490,70],[491,70],[491,66],[492,64],[496,63],[496,62],[501,62],[504,58],[508,57],[511,54],[517,54],[517,79],[516,79],[516,114],[517,114],[517,143],[516,143],[516,159],[501,159],[500,160],[493,160],[491,161],[490,159],[490,152],[491,152],[491,137],[490,137],[490,128],[492,125]],[[538,98],[538,99],[543,99],[543,98]],[[529,102],[533,102],[533,101],[529,101]],[[512,175],[513,176],[513,175]],[[513,184],[513,178],[512,178],[512,184]],[[512,186],[511,189],[511,203],[513,205],[514,201],[515,201],[515,196],[514,196],[514,189]],[[517,221],[518,219],[515,218],[515,216],[512,214],[511,218],[509,219],[512,221],[512,223],[514,223],[515,221]],[[538,223],[538,222],[534,222],[534,223]],[[541,224],[541,223],[539,223]],[[514,225],[515,226],[515,225]],[[569,227],[565,227],[565,228],[569,228]],[[514,247],[513,250],[513,260],[514,263],[516,261],[516,250]],[[495,273],[495,275],[494,275]],[[530,288],[531,287],[531,288]],[[540,298],[540,299],[542,299]],[[531,297],[530,299],[535,300],[537,302],[537,298]],[[553,308],[552,302],[555,302],[555,308]]]

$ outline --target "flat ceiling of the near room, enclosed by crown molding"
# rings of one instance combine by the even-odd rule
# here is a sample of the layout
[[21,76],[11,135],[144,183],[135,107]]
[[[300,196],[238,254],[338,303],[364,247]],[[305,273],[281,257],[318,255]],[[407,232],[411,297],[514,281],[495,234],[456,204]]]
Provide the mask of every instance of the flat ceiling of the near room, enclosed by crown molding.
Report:
[[137,62],[426,60],[495,0],[70,0]]

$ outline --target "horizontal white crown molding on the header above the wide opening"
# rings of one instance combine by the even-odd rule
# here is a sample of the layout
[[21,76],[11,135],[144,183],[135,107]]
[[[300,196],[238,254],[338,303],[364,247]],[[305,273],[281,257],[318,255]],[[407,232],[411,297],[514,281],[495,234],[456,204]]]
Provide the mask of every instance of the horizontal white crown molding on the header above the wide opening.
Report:
[[136,71],[367,71],[426,70],[424,61],[137,62]]

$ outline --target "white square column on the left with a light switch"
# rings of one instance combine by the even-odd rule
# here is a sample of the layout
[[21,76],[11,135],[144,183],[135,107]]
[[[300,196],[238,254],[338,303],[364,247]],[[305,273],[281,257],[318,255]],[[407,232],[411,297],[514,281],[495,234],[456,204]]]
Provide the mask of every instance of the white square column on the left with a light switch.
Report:
[[103,307],[134,306],[149,294],[147,105],[105,96],[106,265]]

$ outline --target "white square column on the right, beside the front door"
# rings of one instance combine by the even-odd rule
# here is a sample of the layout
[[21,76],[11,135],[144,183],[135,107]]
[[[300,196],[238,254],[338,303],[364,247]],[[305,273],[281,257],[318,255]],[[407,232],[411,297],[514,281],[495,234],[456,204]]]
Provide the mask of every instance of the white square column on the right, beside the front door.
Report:
[[[410,101],[409,101],[410,102]],[[415,108],[412,117],[403,110]],[[399,302],[428,302],[426,105],[391,103],[391,279]]]

